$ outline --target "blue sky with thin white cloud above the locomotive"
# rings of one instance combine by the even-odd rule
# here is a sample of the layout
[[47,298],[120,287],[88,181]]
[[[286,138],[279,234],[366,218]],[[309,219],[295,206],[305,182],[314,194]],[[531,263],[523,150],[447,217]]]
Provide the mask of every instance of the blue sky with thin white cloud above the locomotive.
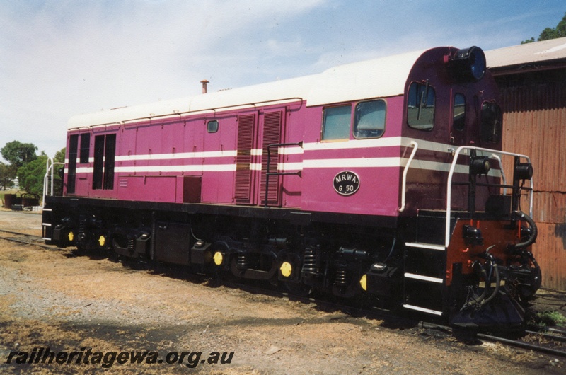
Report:
[[[440,45],[519,45],[563,0],[0,0],[0,148],[70,117]],[[489,65],[489,62],[488,62]]]

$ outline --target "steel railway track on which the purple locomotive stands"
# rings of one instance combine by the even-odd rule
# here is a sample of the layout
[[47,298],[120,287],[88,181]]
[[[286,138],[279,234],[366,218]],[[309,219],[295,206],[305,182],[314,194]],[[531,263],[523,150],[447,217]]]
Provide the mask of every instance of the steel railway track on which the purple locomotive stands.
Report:
[[[56,246],[45,245],[45,243],[43,243],[43,239],[40,236],[35,236],[33,234],[28,234],[28,233],[18,233],[15,231],[6,231],[4,229],[0,229],[0,239],[15,243],[20,243],[28,246],[37,246],[48,250],[58,249]],[[129,264],[133,261],[126,260],[126,262]],[[154,268],[154,265],[146,264],[145,267]],[[136,268],[139,269],[139,265],[137,265]],[[326,298],[319,298],[318,296],[316,298],[313,298],[311,296],[308,297],[295,296],[294,294],[290,294],[289,292],[282,291],[281,288],[273,287],[273,286],[258,287],[257,285],[253,285],[247,282],[235,282],[233,280],[229,280],[229,281],[223,280],[222,283],[226,285],[226,287],[239,288],[245,290],[246,292],[251,292],[255,294],[267,294],[270,296],[289,298],[304,303],[316,303],[318,304],[318,306],[322,306],[324,308],[343,311],[350,316],[364,316],[367,318],[375,318],[375,319],[386,320],[389,322],[395,322],[398,323],[399,325],[405,325],[408,327],[416,327],[422,330],[436,330],[440,333],[446,334],[446,336],[451,335],[453,333],[453,330],[448,326],[439,325],[435,323],[428,323],[424,321],[418,322],[410,318],[404,318],[394,315],[392,313],[388,313],[387,311],[382,311],[379,308],[352,306],[343,303],[337,303],[335,301]],[[533,352],[548,354],[554,357],[566,358],[566,329],[547,328],[547,327],[539,327],[539,326],[531,325],[529,326],[529,329],[524,331],[524,333],[525,335],[523,335],[522,337],[516,340],[512,340],[502,336],[486,335],[483,333],[478,333],[477,335],[475,335],[475,337],[478,340],[499,342],[502,343],[503,345],[518,347],[523,350],[532,350]]]

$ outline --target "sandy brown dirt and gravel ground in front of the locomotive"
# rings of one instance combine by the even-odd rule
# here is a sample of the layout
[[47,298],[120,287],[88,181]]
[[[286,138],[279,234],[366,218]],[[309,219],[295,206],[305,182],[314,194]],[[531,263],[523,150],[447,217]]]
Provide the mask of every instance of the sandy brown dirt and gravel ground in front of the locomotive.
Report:
[[[0,229],[40,234],[40,227],[38,214],[0,211]],[[566,369],[563,358],[487,342],[467,345],[433,330],[212,285],[180,269],[135,268],[103,255],[0,240],[0,373],[563,374]],[[32,353],[46,348],[79,352],[81,358],[19,363],[34,362]],[[158,357],[155,363],[120,364],[112,354],[132,351]],[[220,357],[226,352],[224,362],[230,363],[216,361],[213,352]]]

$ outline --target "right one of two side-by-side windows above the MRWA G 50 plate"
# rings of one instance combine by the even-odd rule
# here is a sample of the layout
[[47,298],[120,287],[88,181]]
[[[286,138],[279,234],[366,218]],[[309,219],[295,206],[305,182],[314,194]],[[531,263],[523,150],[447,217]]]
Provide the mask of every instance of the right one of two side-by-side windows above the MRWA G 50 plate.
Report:
[[385,132],[385,115],[385,100],[358,103],[354,117],[354,137],[381,137]]

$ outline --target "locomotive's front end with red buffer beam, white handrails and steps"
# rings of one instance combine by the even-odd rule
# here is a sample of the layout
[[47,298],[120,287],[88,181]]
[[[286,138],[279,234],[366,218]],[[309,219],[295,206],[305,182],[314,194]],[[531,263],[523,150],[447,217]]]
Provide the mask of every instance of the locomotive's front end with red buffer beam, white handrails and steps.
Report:
[[458,326],[517,327],[517,301],[540,287],[529,248],[536,225],[521,212],[521,202],[532,210],[532,167],[527,156],[501,151],[502,113],[483,52],[452,50],[444,62],[444,71],[415,64],[408,79],[413,156],[442,159],[446,169],[405,166],[403,214],[416,219],[414,241],[405,243],[403,306]]

